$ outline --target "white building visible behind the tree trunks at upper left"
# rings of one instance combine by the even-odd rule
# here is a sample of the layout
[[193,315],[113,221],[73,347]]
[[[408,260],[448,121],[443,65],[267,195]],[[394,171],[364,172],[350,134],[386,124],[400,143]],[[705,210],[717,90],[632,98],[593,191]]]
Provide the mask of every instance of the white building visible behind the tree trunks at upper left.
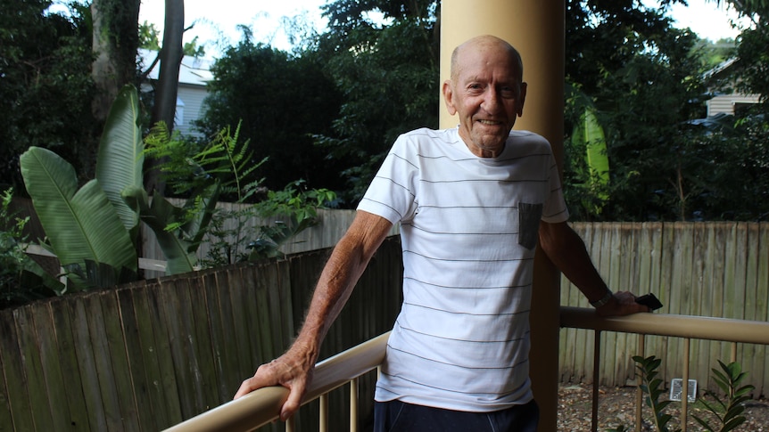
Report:
[[[158,53],[151,50],[139,50],[140,67],[143,71],[149,68]],[[206,86],[213,79],[211,65],[213,61],[198,59],[186,55],[179,67],[179,86],[177,91],[177,109],[174,114],[174,129],[180,134],[202,137],[194,131],[192,122],[203,115],[203,99],[208,94]],[[156,63],[147,77],[157,81],[160,73],[160,63]],[[143,88],[149,91],[149,88]]]

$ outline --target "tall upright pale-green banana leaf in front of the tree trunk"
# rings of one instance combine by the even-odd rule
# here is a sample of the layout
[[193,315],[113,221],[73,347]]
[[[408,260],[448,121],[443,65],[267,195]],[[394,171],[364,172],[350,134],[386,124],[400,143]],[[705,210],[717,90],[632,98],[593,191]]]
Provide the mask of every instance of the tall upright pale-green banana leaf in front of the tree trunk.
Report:
[[96,159],[96,179],[132,237],[138,232],[138,211],[128,207],[121,194],[128,187],[142,186],[145,157],[140,115],[136,87],[124,86],[112,102]]

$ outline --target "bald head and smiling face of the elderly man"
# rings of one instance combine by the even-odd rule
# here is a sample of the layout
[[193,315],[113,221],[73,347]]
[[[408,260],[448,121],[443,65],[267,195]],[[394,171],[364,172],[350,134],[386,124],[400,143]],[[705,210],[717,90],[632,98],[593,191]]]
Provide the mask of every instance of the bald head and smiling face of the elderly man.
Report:
[[523,114],[526,85],[516,50],[497,37],[476,37],[451,56],[443,97],[459,115],[459,136],[478,157],[494,158]]

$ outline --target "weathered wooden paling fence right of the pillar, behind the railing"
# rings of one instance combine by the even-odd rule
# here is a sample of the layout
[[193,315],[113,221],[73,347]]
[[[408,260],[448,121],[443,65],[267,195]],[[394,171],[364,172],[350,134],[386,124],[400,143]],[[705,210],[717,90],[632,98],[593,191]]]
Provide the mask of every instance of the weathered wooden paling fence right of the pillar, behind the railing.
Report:
[[[769,321],[769,224],[647,223],[573,224],[585,240],[593,263],[612,289],[653,292],[665,305],[659,313]],[[589,307],[566,278],[561,304]],[[604,333],[600,382],[621,386],[633,378],[633,355],[664,359],[661,378],[682,377],[682,340],[648,337],[645,353],[636,353],[637,336]],[[592,382],[593,335],[561,330],[559,365],[562,382]],[[765,346],[740,345],[737,360],[748,371],[757,394],[769,391]],[[690,379],[716,389],[708,379],[718,361],[730,360],[728,344],[691,343]],[[634,382],[634,380],[633,380]]]

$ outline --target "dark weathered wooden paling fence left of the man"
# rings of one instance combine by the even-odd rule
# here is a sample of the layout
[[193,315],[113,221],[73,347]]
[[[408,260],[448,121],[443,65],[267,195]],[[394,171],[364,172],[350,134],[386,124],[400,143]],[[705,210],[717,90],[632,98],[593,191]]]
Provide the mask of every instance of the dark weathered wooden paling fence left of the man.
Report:
[[[0,429],[156,431],[227,402],[288,346],[327,253],[0,311]],[[400,269],[391,238],[329,330],[321,358],[391,329]],[[373,397],[372,380],[361,382],[361,395]],[[372,397],[361,401],[361,416]]]

